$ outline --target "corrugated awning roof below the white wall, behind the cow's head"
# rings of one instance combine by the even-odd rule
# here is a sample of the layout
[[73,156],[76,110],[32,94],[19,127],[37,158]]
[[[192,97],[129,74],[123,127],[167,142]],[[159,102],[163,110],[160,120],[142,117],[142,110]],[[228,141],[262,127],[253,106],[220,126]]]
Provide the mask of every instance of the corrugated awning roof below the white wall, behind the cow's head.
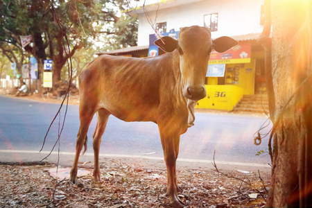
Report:
[[[235,36],[232,36],[232,38],[234,40],[237,40],[238,42],[241,42],[241,41],[248,41],[248,40],[257,40],[259,35],[261,35],[261,33],[250,33],[246,35],[235,35]],[[117,49],[114,51],[105,51],[105,52],[97,53],[97,55],[101,55],[101,54],[118,55],[118,54],[123,54],[123,53],[129,53],[132,51],[143,51],[143,50],[148,50],[148,46],[132,46],[132,47],[124,48],[124,49]]]

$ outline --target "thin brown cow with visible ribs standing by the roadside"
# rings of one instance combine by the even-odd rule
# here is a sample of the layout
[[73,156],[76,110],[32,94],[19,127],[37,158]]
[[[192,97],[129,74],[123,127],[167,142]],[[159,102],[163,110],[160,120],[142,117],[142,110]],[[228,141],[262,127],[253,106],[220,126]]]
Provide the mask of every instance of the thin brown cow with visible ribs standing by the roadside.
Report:
[[96,113],[93,135],[94,180],[101,180],[98,153],[108,116],[123,121],[157,123],[167,166],[167,194],[173,207],[184,207],[177,196],[175,161],[180,135],[193,125],[196,101],[206,96],[205,77],[211,49],[227,51],[237,42],[230,37],[211,40],[208,28],[182,28],[179,40],[162,37],[155,42],[168,52],[155,58],[101,55],[79,76],[80,128],[71,182],[77,182],[80,151]]

